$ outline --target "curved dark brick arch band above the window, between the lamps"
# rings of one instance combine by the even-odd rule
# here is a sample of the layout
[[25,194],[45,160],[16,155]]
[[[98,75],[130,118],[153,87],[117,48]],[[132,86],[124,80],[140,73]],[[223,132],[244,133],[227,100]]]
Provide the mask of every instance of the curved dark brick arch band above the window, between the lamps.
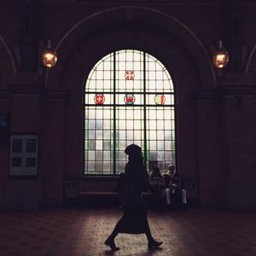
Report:
[[[134,23],[137,26],[145,25],[149,28],[152,27],[155,31],[160,30],[166,33],[166,37],[170,37],[177,44],[182,45],[197,70],[196,72],[200,80],[198,86],[208,89],[215,87],[216,77],[212,67],[212,59],[195,33],[171,15],[167,15],[159,10],[138,6],[105,9],[80,20],[63,35],[55,47],[60,56],[59,68],[61,69],[67,65],[67,61],[69,61],[67,56],[77,47],[80,41],[83,41],[83,38],[89,37],[96,31],[100,32],[109,27],[130,23]],[[50,71],[47,73],[47,83],[60,84],[61,72],[55,73]]]

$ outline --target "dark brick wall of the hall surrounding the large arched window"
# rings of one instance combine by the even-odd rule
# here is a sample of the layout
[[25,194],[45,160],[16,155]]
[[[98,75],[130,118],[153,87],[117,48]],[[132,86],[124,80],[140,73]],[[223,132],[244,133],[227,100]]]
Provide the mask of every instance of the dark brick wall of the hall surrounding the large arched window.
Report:
[[[247,16],[242,60],[246,72],[236,79],[226,73],[224,84],[234,87],[247,85],[250,80],[251,89],[242,90],[242,85],[235,93],[216,87],[218,79],[212,67],[212,44],[222,31],[218,2],[138,1],[131,5],[120,1],[48,1],[40,6],[40,37],[42,42],[52,40],[58,62],[49,72],[38,67],[38,79],[33,73],[20,74],[20,5],[1,7],[0,14],[6,21],[3,24],[9,26],[3,26],[0,36],[9,52],[2,40],[0,112],[11,113],[12,132],[39,133],[38,174],[44,182],[47,203],[61,204],[65,180],[79,181],[81,190],[113,188],[112,179],[82,177],[82,104],[90,69],[116,49],[145,50],[171,73],[177,100],[177,169],[183,177],[198,183],[201,205],[217,207],[230,201],[230,191],[236,189],[230,180],[256,179],[256,58],[255,35],[250,29],[255,23],[255,3],[243,1],[241,10]],[[43,49],[41,43],[39,49]],[[8,181],[9,143],[1,143],[0,155],[2,205]],[[228,192],[224,190],[226,180]]]

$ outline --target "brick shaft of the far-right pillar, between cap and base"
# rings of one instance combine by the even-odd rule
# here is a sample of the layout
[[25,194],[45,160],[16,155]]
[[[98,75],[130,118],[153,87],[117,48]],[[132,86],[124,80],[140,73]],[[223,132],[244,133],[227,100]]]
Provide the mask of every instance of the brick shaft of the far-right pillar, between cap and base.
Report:
[[224,177],[255,178],[254,96],[226,96],[224,102],[227,161]]

